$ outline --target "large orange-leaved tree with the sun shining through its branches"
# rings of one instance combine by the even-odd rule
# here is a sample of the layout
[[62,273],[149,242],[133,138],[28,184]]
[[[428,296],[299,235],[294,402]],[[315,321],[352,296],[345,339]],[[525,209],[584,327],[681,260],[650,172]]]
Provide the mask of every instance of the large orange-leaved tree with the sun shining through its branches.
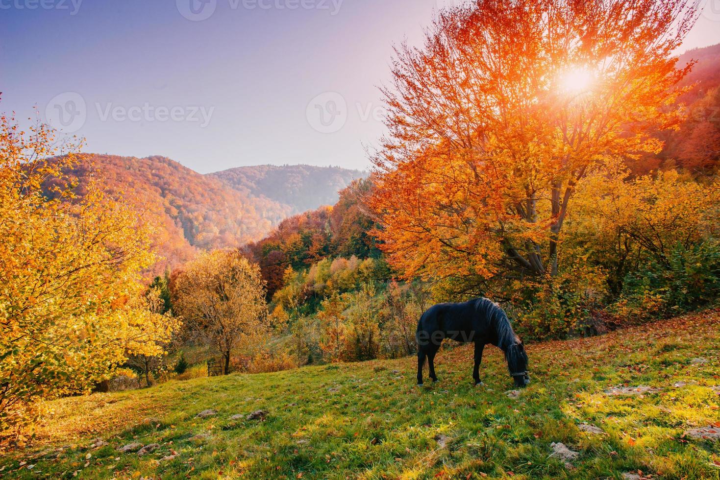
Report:
[[[408,276],[542,282],[562,270],[577,183],[658,153],[682,117],[685,0],[476,0],[401,45],[374,155],[377,236]],[[513,286],[516,286],[513,284]]]

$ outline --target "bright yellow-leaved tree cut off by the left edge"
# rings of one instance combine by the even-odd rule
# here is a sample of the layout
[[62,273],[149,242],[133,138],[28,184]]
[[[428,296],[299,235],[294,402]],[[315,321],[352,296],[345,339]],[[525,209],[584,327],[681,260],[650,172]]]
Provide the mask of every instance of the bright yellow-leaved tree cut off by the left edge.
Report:
[[150,225],[98,184],[76,199],[63,172],[80,143],[54,145],[47,125],[24,132],[0,116],[0,435],[20,442],[37,400],[87,391],[131,353],[162,353],[176,329],[143,295]]

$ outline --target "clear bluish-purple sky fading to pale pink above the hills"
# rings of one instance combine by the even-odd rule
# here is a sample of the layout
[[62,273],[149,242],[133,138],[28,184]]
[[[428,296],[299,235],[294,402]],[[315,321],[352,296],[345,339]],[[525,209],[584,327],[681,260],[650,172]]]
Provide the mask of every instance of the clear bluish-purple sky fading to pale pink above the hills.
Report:
[[[369,167],[393,43],[453,0],[0,0],[0,111],[201,173]],[[720,0],[685,47],[720,43]]]

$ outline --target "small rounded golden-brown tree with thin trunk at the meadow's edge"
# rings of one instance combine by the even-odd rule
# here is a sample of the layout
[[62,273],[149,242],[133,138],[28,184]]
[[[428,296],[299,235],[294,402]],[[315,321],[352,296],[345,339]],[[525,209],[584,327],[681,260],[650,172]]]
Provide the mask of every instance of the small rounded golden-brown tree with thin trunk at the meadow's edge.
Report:
[[174,279],[174,306],[192,334],[222,356],[266,330],[265,284],[258,266],[236,250],[201,253]]

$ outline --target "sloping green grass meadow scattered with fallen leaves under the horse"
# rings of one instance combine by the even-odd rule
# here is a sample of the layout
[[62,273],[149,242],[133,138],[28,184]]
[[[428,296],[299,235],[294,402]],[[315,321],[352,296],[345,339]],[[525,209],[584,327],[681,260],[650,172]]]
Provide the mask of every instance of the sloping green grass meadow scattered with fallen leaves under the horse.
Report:
[[[415,360],[405,358],[61,399],[48,404],[54,413],[36,444],[0,460],[0,476],[621,479],[642,471],[718,479],[719,443],[683,438],[719,421],[718,345],[718,312],[530,345],[533,381],[517,399],[505,395],[513,387],[495,348],[483,362],[487,385],[471,385],[466,346],[438,354],[440,381],[425,388],[415,386]],[[673,386],[680,381],[686,385]],[[660,390],[603,393],[624,385]],[[195,418],[204,409],[218,414]],[[257,409],[269,412],[266,420],[230,421]],[[605,434],[582,432],[582,422]],[[109,445],[87,449],[98,437]],[[115,450],[131,442],[161,446],[143,457]],[[549,456],[552,442],[580,456],[566,466]]]

